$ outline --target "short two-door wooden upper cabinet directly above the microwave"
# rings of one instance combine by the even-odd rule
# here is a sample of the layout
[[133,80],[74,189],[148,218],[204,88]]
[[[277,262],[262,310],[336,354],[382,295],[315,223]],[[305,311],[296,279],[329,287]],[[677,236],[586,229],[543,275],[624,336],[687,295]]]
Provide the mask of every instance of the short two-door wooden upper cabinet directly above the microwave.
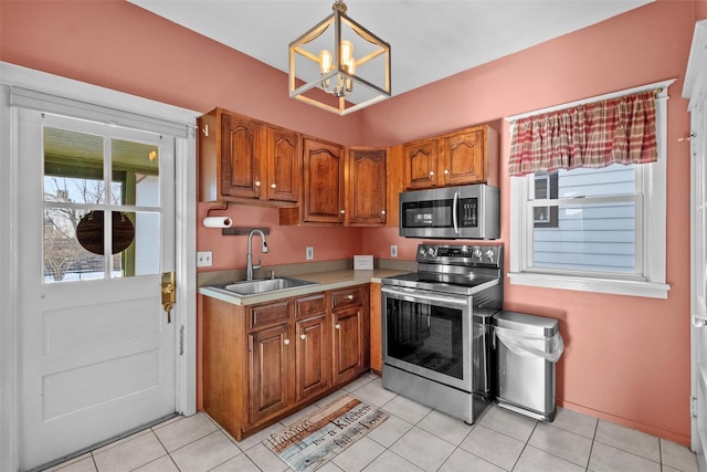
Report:
[[488,125],[404,146],[407,190],[488,183],[498,187],[498,133]]

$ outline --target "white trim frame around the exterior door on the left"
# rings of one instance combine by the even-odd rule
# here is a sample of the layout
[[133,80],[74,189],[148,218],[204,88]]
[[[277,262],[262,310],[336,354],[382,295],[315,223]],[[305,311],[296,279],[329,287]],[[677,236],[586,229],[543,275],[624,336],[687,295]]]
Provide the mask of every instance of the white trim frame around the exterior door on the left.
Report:
[[[96,85],[0,62],[0,470],[19,468],[19,333],[18,287],[18,149],[17,109],[10,106],[11,87],[22,87],[146,115],[189,127],[176,144],[176,329],[177,412],[189,416],[197,408],[197,146],[198,112],[154,102]],[[146,112],[149,111],[149,112]],[[183,355],[179,356],[183,339]]]

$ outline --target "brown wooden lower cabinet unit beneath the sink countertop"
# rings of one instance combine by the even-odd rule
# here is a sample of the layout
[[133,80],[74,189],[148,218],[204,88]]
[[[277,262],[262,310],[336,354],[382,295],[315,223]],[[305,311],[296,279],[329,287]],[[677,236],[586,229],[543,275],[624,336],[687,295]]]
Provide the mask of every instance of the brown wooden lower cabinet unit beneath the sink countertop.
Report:
[[252,306],[203,297],[203,405],[235,440],[368,371],[369,286]]

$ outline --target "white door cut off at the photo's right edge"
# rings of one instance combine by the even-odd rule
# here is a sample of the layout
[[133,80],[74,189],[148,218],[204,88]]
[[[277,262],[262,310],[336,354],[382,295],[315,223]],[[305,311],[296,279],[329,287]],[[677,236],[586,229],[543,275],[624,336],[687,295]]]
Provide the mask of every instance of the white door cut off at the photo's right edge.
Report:
[[683,96],[690,112],[692,447],[707,471],[707,20],[695,27]]

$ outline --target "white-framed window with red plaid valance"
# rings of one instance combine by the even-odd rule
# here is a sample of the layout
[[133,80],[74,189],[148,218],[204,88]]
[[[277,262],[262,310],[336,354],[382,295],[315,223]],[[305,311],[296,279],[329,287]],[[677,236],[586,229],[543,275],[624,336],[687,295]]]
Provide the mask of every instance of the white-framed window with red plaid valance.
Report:
[[669,83],[508,118],[511,283],[667,296]]

